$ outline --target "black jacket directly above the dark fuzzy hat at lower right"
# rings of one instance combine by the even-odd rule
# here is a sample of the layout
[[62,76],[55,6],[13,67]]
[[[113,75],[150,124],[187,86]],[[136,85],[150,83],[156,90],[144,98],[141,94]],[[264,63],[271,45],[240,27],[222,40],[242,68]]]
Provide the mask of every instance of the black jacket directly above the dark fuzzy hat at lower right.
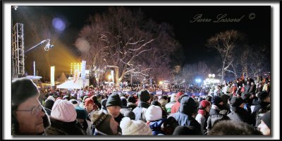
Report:
[[243,121],[250,125],[252,125],[252,123],[255,121],[248,111],[240,107],[232,107],[232,112],[227,116],[233,121]]

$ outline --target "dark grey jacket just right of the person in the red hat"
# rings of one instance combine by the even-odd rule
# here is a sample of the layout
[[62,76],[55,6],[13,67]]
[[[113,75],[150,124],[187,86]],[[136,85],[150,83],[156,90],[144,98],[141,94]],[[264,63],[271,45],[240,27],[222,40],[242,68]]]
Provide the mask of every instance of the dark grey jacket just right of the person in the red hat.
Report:
[[212,104],[212,109],[209,111],[209,118],[207,118],[207,130],[211,130],[214,123],[221,120],[230,119],[228,116],[219,113],[219,108]]

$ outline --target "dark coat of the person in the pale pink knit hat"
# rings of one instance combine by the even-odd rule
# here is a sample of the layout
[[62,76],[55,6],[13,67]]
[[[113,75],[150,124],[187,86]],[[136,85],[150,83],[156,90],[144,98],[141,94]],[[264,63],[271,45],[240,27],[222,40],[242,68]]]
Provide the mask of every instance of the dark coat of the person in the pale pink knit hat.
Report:
[[76,121],[66,123],[54,118],[50,118],[50,121],[51,127],[47,128],[46,135],[85,135]]

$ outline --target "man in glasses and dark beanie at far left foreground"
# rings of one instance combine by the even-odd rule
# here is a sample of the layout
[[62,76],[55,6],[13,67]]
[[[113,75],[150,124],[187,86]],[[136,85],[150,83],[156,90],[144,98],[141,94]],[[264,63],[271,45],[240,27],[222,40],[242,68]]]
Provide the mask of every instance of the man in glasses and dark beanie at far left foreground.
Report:
[[32,80],[12,81],[12,135],[45,135],[49,116],[39,102],[39,90]]

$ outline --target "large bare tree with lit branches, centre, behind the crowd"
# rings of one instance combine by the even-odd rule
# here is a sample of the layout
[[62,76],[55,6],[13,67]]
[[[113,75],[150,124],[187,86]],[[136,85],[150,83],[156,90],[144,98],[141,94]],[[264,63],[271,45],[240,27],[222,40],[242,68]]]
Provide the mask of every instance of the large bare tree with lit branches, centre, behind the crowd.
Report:
[[114,69],[116,86],[130,73],[140,78],[157,75],[157,68],[168,67],[169,54],[176,49],[171,27],[146,21],[140,10],[109,7],[106,13],[90,16],[89,22],[78,38],[86,45],[78,40],[75,45],[92,66]]

